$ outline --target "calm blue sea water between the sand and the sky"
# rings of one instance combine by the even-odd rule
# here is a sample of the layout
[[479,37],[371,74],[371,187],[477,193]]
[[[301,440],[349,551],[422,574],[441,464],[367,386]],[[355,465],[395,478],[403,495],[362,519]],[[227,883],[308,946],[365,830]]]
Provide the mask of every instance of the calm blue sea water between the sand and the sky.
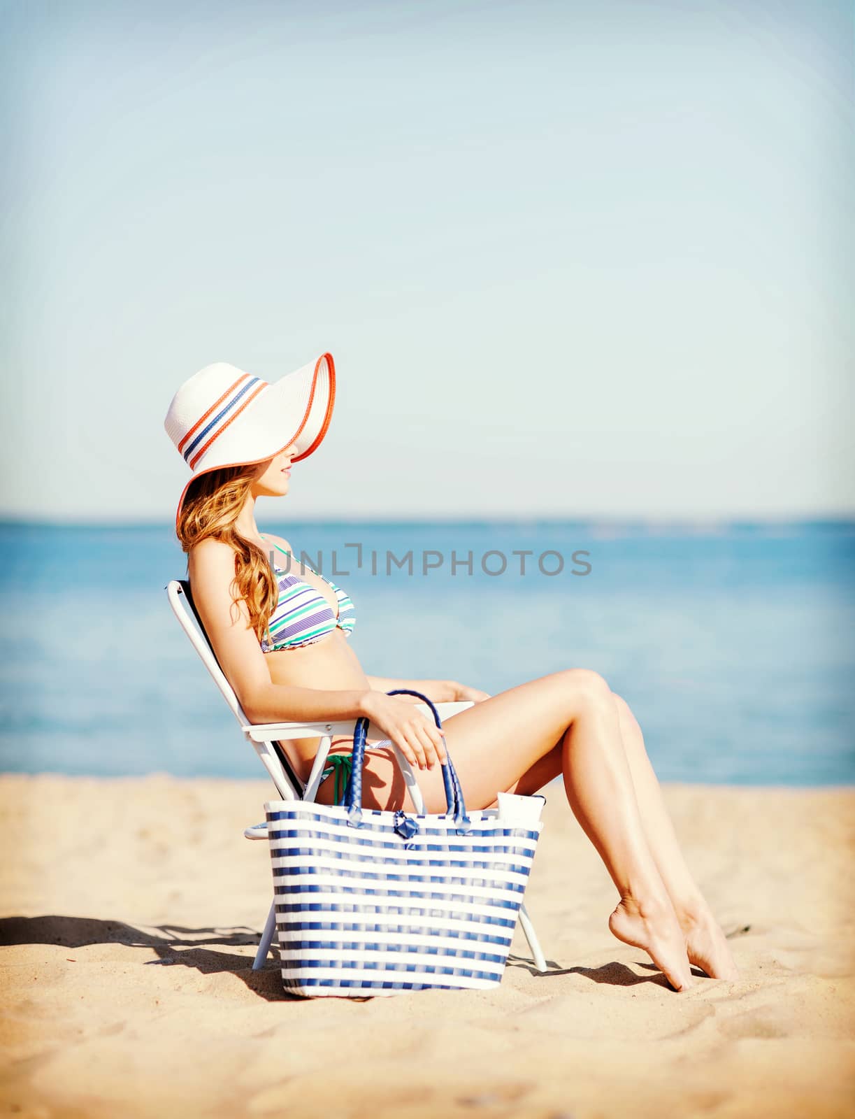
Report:
[[[855,524],[262,527],[348,591],[373,675],[496,693],[593,668],[664,780],[855,781]],[[262,775],[169,609],[171,526],[7,524],[0,555],[0,769]]]

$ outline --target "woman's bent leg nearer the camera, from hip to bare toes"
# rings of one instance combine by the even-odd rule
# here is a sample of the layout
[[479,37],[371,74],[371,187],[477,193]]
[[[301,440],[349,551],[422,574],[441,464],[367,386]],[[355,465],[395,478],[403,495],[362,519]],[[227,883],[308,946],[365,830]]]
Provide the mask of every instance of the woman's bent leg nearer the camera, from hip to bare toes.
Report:
[[[473,809],[491,803],[497,789],[510,788],[560,745],[567,800],[620,894],[611,931],[643,948],[678,990],[689,987],[683,930],[645,836],[618,711],[602,677],[584,669],[554,673],[476,704],[444,730]],[[445,807],[439,769],[417,772],[432,812]],[[412,809],[389,747],[367,752],[363,789],[367,807]]]

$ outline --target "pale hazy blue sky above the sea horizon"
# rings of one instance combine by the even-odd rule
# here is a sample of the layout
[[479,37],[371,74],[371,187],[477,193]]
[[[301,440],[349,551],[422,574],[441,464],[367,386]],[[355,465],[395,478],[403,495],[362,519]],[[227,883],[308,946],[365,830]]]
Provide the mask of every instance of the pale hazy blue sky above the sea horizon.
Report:
[[327,350],[284,519],[855,515],[851,4],[0,15],[0,516],[169,521],[178,386]]

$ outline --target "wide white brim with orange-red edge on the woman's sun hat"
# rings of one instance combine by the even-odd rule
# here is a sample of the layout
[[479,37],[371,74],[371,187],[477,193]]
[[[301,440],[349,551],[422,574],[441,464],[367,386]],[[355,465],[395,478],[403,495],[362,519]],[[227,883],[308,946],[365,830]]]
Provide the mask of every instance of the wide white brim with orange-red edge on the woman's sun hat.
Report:
[[[196,376],[205,374],[208,369],[210,366],[199,370]],[[200,452],[197,451],[195,459],[190,459],[192,477],[178,499],[176,527],[187,490],[201,474],[224,467],[265,462],[292,444],[297,444],[297,454],[292,459],[297,462],[306,459],[320,445],[327,434],[336,399],[336,366],[332,355],[321,354],[317,360],[310,361],[294,373],[286,374],[273,384],[262,383],[262,386],[247,404],[216,432],[216,438],[210,444],[203,443]],[[175,406],[173,401],[170,412]],[[167,429],[169,430],[169,417]]]

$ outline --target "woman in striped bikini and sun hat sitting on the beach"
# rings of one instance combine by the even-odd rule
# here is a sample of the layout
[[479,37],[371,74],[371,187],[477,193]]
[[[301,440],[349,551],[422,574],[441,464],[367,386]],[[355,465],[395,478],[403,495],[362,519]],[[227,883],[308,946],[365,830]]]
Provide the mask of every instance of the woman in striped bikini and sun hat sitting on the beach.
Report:
[[[348,643],[347,594],[292,561],[295,542],[261,533],[260,497],[284,497],[291,468],[317,449],[335,401],[322,355],[273,385],[226,363],[206,366],[176,393],[167,431],[192,471],[176,529],[194,600],[217,659],[254,723],[367,716],[386,735],[366,751],[363,803],[413,810],[392,744],[420,770],[429,812],[445,808],[443,739],[413,702],[471,699],[444,722],[467,806],[492,807],[499,790],[530,794],[563,775],[570,806],[620,895],[609,928],[642,948],[677,990],[690,965],[735,979],[727,943],[680,853],[632,712],[605,680],[567,668],[488,696],[452,680],[366,675]],[[300,545],[308,551],[306,542]],[[288,743],[306,781],[318,740]],[[330,755],[348,754],[351,740]],[[333,802],[333,770],[318,800]]]

